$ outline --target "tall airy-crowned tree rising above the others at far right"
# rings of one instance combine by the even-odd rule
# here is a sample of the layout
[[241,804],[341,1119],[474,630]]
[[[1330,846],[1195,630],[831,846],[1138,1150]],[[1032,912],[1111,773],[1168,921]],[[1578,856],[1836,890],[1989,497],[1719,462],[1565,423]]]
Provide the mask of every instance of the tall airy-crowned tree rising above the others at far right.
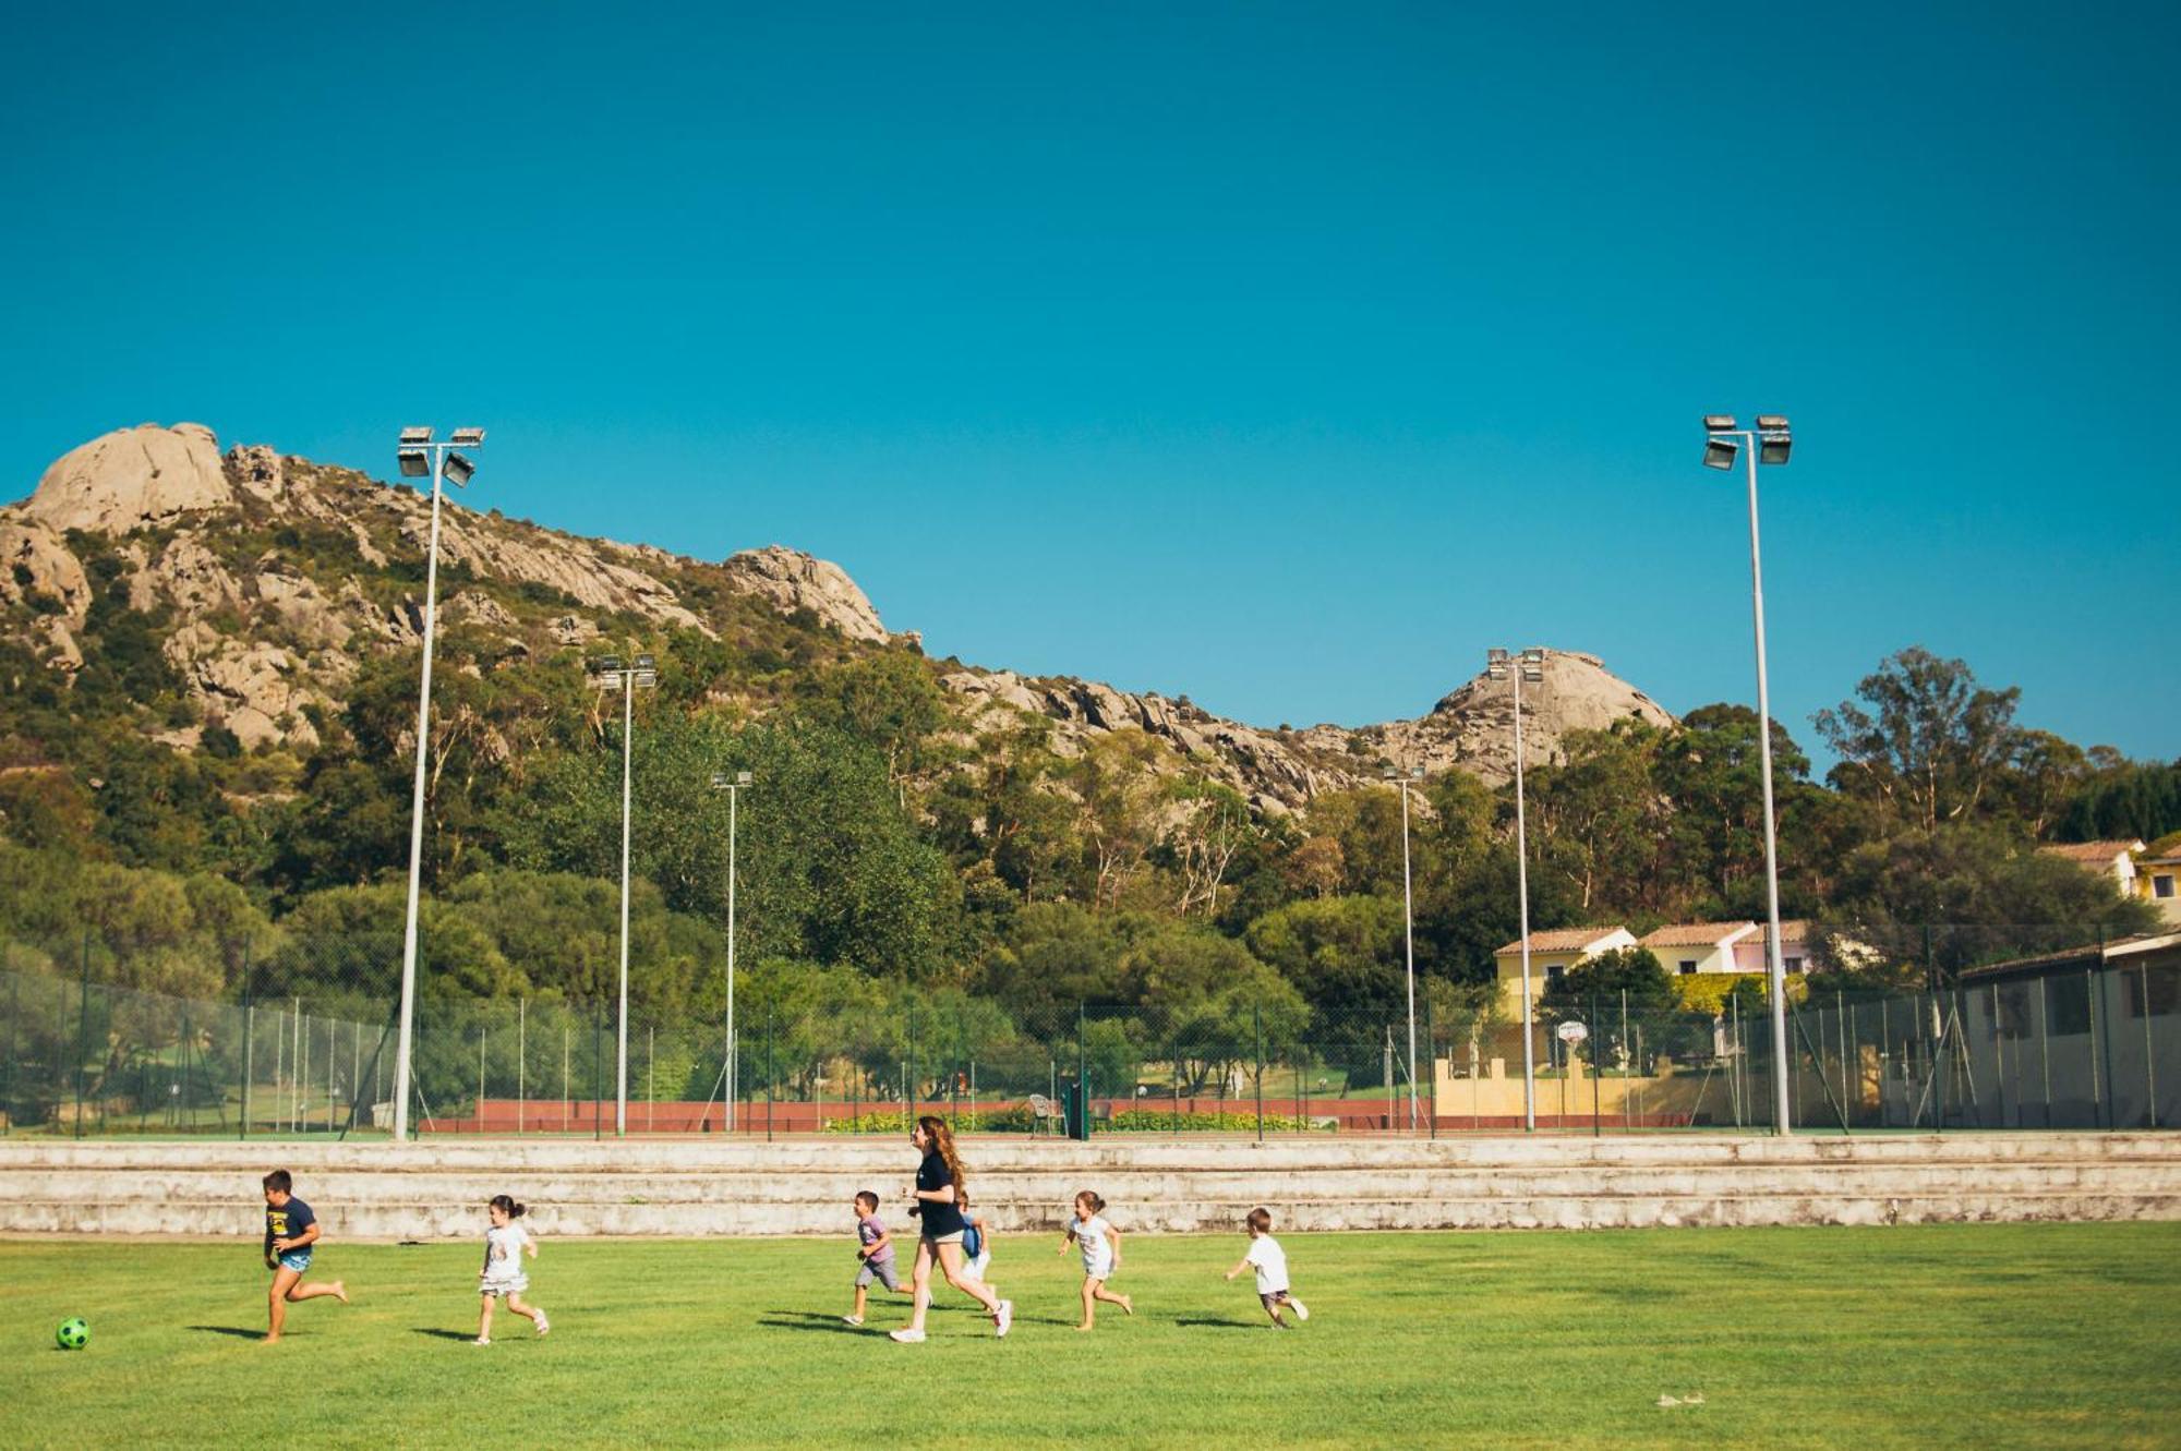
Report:
[[1987,691],[1963,660],[1908,647],[1819,710],[1817,734],[1841,756],[1832,784],[1884,802],[1926,832],[1978,813],[2022,749],[2020,686]]

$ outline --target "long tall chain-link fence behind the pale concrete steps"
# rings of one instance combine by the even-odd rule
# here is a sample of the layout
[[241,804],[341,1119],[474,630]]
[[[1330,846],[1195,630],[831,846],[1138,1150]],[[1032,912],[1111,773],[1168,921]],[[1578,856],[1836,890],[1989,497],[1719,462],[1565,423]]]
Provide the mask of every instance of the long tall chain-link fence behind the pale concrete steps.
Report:
[[[868,978],[794,991],[774,976],[746,985],[733,1033],[724,1015],[632,1011],[626,1054],[611,1000],[447,996],[427,954],[410,1118],[421,1135],[585,1137],[899,1133],[916,1113],[966,1133],[1771,1131],[1773,1024],[1754,948],[1727,943],[1671,991],[1583,991],[1579,972],[1540,967],[1527,1035],[1520,991],[1450,996],[1429,978],[1411,1022],[1405,1002],[1309,1011],[1230,991],[1010,1009]],[[1795,1129],[2181,1118],[2174,937],[1812,928],[1797,948]],[[94,932],[0,954],[4,1133],[390,1124],[397,937],[284,939],[255,963],[246,943],[174,961]]]

